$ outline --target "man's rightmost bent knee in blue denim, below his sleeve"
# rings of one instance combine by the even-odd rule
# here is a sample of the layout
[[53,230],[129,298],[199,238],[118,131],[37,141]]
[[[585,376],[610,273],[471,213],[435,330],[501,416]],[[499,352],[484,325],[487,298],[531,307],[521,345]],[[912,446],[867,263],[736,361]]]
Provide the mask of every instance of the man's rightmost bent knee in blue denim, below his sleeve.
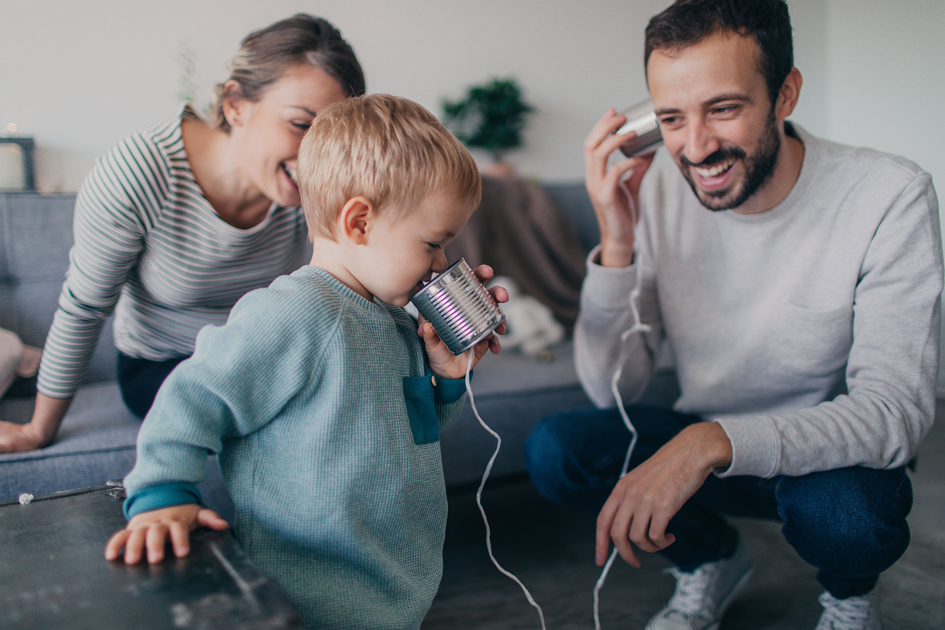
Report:
[[840,468],[786,477],[778,494],[784,536],[820,569],[876,575],[909,546],[912,485],[902,470]]

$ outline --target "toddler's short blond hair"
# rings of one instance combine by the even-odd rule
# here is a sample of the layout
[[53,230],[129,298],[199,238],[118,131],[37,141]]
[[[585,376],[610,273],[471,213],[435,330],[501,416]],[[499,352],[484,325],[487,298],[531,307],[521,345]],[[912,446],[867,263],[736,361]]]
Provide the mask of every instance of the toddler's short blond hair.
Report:
[[420,104],[369,94],[318,113],[302,138],[301,204],[312,238],[335,238],[345,202],[365,196],[376,213],[405,213],[431,193],[478,205],[479,169],[472,155]]

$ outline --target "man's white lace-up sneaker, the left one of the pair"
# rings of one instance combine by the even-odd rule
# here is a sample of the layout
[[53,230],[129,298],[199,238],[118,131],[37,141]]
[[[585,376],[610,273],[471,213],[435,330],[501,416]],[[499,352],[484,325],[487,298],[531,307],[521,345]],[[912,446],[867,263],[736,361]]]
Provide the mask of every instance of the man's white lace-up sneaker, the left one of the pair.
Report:
[[676,578],[676,592],[646,624],[646,630],[717,630],[729,605],[747,586],[752,570],[741,542],[730,558],[707,562],[692,573],[667,569]]

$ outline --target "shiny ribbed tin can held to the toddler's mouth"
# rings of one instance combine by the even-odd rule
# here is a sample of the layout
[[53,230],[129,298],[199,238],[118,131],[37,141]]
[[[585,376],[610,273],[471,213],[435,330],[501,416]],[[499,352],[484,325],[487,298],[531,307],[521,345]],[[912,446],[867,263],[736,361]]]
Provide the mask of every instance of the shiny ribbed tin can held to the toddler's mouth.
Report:
[[499,304],[462,258],[427,282],[410,301],[454,354],[471,349],[506,320]]

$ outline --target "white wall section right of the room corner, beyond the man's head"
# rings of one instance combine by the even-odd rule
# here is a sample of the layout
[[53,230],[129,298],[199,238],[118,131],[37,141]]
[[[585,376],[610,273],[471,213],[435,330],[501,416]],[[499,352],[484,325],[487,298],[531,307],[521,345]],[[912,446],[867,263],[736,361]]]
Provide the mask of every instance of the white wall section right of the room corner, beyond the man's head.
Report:
[[830,0],[827,25],[827,135],[918,162],[945,198],[945,2]]

